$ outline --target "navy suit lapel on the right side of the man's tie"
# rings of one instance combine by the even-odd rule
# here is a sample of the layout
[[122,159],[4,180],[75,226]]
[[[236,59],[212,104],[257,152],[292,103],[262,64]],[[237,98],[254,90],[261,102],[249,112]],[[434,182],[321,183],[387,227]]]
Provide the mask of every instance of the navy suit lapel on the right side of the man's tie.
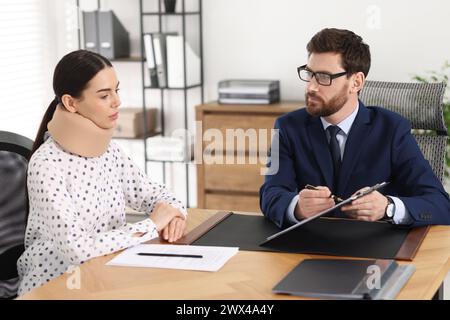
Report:
[[362,146],[365,145],[365,141],[370,133],[370,130],[372,129],[372,126],[369,124],[369,110],[360,101],[358,114],[356,115],[355,121],[350,129],[347,142],[345,143],[344,158],[342,159],[342,166],[339,174],[337,194],[342,194],[345,191],[348,179],[350,178],[353,168],[361,154]]

